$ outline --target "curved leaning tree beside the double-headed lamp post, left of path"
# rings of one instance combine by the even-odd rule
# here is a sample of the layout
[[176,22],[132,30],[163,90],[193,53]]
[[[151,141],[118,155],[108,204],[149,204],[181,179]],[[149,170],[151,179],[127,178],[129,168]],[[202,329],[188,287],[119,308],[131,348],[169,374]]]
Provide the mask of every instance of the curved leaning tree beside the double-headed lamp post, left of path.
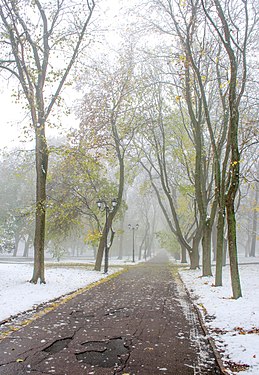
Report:
[[[107,203],[116,198],[117,205],[107,210],[107,220],[101,230],[95,270],[101,269],[107,236],[112,231],[113,220],[122,205],[125,185],[125,155],[134,136],[138,99],[134,94],[134,61],[132,51],[119,56],[117,65],[106,67],[95,62],[91,71],[95,85],[87,90],[80,109],[82,143],[90,147],[95,157],[106,164],[114,189],[103,191]],[[103,63],[103,60],[102,60]],[[88,81],[88,75],[82,78]],[[108,247],[110,247],[108,244]],[[107,253],[106,253],[107,254]]]

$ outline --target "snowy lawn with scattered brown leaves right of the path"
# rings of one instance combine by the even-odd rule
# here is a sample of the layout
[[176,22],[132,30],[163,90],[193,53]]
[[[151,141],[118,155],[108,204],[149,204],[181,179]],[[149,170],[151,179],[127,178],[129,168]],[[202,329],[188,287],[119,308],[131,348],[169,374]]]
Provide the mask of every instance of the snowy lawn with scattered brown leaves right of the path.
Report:
[[222,352],[223,362],[249,365],[239,374],[258,375],[259,264],[239,267],[243,297],[238,300],[231,298],[228,266],[224,268],[223,286],[217,288],[213,286],[214,277],[201,278],[200,270],[182,269],[180,275],[205,321],[207,315],[206,326]]

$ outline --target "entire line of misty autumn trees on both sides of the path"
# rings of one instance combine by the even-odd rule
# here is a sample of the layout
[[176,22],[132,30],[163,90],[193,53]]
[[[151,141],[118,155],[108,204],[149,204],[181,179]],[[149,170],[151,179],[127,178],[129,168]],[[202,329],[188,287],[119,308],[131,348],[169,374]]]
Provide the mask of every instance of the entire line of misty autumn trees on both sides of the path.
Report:
[[[101,55],[91,55],[89,43],[97,38],[95,2],[66,5],[36,0],[26,10],[23,0],[1,0],[0,68],[17,78],[35,136],[31,281],[45,282],[46,223],[58,244],[79,217],[96,234],[91,238],[99,270],[107,233],[123,220],[127,189],[139,181],[138,194],[156,198],[183,262],[190,259],[192,269],[201,264],[202,275],[212,275],[214,254],[216,286],[222,285],[227,245],[233,297],[241,297],[237,215],[249,199],[252,225],[244,227],[252,255],[257,239],[258,4],[136,4],[131,11],[137,23],[127,27],[121,47]],[[82,93],[76,106],[80,125],[52,152],[46,126],[62,108],[62,90],[73,72]],[[49,163],[58,173],[48,176]],[[99,197],[117,200],[105,225],[95,204]],[[168,242],[165,234],[158,237]]]

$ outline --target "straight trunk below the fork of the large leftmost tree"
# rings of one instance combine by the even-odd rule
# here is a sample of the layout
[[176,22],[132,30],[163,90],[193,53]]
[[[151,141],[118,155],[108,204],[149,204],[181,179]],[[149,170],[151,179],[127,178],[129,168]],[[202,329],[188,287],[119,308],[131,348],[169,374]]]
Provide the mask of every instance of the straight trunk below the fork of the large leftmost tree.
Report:
[[48,147],[44,123],[36,127],[36,220],[34,237],[34,271],[31,283],[45,282],[44,243],[46,219],[46,181],[48,172]]

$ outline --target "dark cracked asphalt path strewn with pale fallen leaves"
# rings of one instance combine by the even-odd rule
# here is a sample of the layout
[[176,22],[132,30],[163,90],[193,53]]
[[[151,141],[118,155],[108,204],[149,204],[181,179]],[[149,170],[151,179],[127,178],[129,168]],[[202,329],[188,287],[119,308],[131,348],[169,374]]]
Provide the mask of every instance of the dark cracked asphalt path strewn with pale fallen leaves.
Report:
[[221,374],[172,269],[156,257],[13,332],[0,374]]

